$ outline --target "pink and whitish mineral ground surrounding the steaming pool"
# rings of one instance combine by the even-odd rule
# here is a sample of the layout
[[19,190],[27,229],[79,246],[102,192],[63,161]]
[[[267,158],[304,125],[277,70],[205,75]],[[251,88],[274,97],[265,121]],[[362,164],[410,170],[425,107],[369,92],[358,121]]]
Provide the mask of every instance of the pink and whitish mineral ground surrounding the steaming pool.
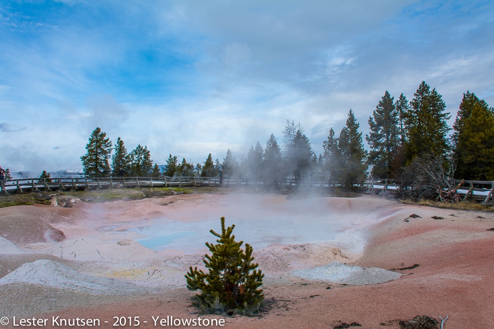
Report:
[[[240,203],[232,204],[232,198]],[[320,216],[324,222],[311,221],[310,225],[325,227],[334,218],[346,233],[329,242],[258,248],[256,261],[266,274],[267,310],[252,317],[224,317],[224,328],[333,328],[341,323],[362,326],[356,328],[399,328],[399,320],[416,315],[436,319],[448,315],[446,329],[494,328],[494,231],[488,230],[494,227],[492,212],[404,205],[374,196],[306,200],[304,205],[282,195],[200,194],[96,205],[77,200],[74,208],[0,209],[0,316],[98,318],[108,321],[102,323],[103,328],[112,327],[114,316],[138,316],[138,328],[156,328],[153,316],[199,318],[190,304],[194,292],[184,287],[183,275],[189,265],[201,265],[201,255],[172,248],[150,250],[134,241],[142,234],[132,228],[143,220],[160,218],[199,223],[220,213],[228,221],[236,211],[248,213],[252,206],[258,208],[256,212],[276,214],[288,209],[296,213],[290,207],[298,205],[319,207],[310,216]],[[419,217],[412,218],[412,214]],[[348,223],[342,224],[341,218]],[[16,224],[20,222],[22,226]],[[292,275],[294,270],[335,260],[393,269],[403,275],[367,286]],[[38,279],[24,280],[19,266],[32,262],[36,266],[43,262],[43,271],[55,273],[48,275],[57,276],[58,281],[43,285]],[[65,272],[49,267],[53,264]],[[18,276],[13,277],[16,269]],[[69,276],[89,288],[71,283]],[[109,290],[91,288],[88,278],[94,277],[102,284],[109,280]]]

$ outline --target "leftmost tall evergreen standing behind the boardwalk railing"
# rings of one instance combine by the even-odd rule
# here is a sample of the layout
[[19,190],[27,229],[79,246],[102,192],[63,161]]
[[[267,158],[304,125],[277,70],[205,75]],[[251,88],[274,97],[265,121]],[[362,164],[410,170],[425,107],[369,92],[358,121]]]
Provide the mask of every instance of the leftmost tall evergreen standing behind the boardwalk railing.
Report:
[[110,176],[110,153],[112,142],[98,127],[93,130],[86,145],[86,154],[81,156],[82,168],[86,177]]

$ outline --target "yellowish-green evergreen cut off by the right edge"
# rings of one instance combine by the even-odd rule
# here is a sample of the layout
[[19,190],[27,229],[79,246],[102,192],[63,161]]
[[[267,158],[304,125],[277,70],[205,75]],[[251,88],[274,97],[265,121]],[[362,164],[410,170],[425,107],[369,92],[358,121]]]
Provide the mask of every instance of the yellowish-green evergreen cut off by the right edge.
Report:
[[458,159],[455,176],[494,180],[494,110],[475,94],[463,94],[452,136]]

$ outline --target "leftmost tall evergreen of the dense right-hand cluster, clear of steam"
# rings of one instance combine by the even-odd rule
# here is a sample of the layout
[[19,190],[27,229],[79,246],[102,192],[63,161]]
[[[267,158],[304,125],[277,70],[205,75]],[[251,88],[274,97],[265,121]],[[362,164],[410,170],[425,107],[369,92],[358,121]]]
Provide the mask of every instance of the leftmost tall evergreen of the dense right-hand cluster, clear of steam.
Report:
[[400,139],[398,114],[393,97],[386,90],[373,112],[373,117],[369,117],[371,133],[366,135],[366,141],[371,147],[368,162],[373,165],[373,177],[391,176],[393,157]]

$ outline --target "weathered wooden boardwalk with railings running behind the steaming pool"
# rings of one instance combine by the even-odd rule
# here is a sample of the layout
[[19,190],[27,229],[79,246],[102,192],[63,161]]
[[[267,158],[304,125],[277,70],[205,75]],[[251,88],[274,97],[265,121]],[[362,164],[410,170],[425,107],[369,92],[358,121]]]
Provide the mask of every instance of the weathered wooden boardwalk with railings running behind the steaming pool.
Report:
[[[458,182],[459,183],[459,182]],[[294,179],[286,179],[283,186],[297,186]],[[142,187],[186,187],[186,186],[262,186],[263,182],[249,182],[245,179],[219,177],[100,177],[100,178],[26,178],[0,181],[1,193],[24,193],[39,191],[76,191],[104,188]],[[304,187],[329,187],[322,181],[303,181]],[[339,184],[336,184],[338,186]],[[363,184],[367,193],[394,193],[396,181],[370,178]],[[457,190],[463,200],[473,199],[482,204],[494,204],[494,181],[463,181]]]

